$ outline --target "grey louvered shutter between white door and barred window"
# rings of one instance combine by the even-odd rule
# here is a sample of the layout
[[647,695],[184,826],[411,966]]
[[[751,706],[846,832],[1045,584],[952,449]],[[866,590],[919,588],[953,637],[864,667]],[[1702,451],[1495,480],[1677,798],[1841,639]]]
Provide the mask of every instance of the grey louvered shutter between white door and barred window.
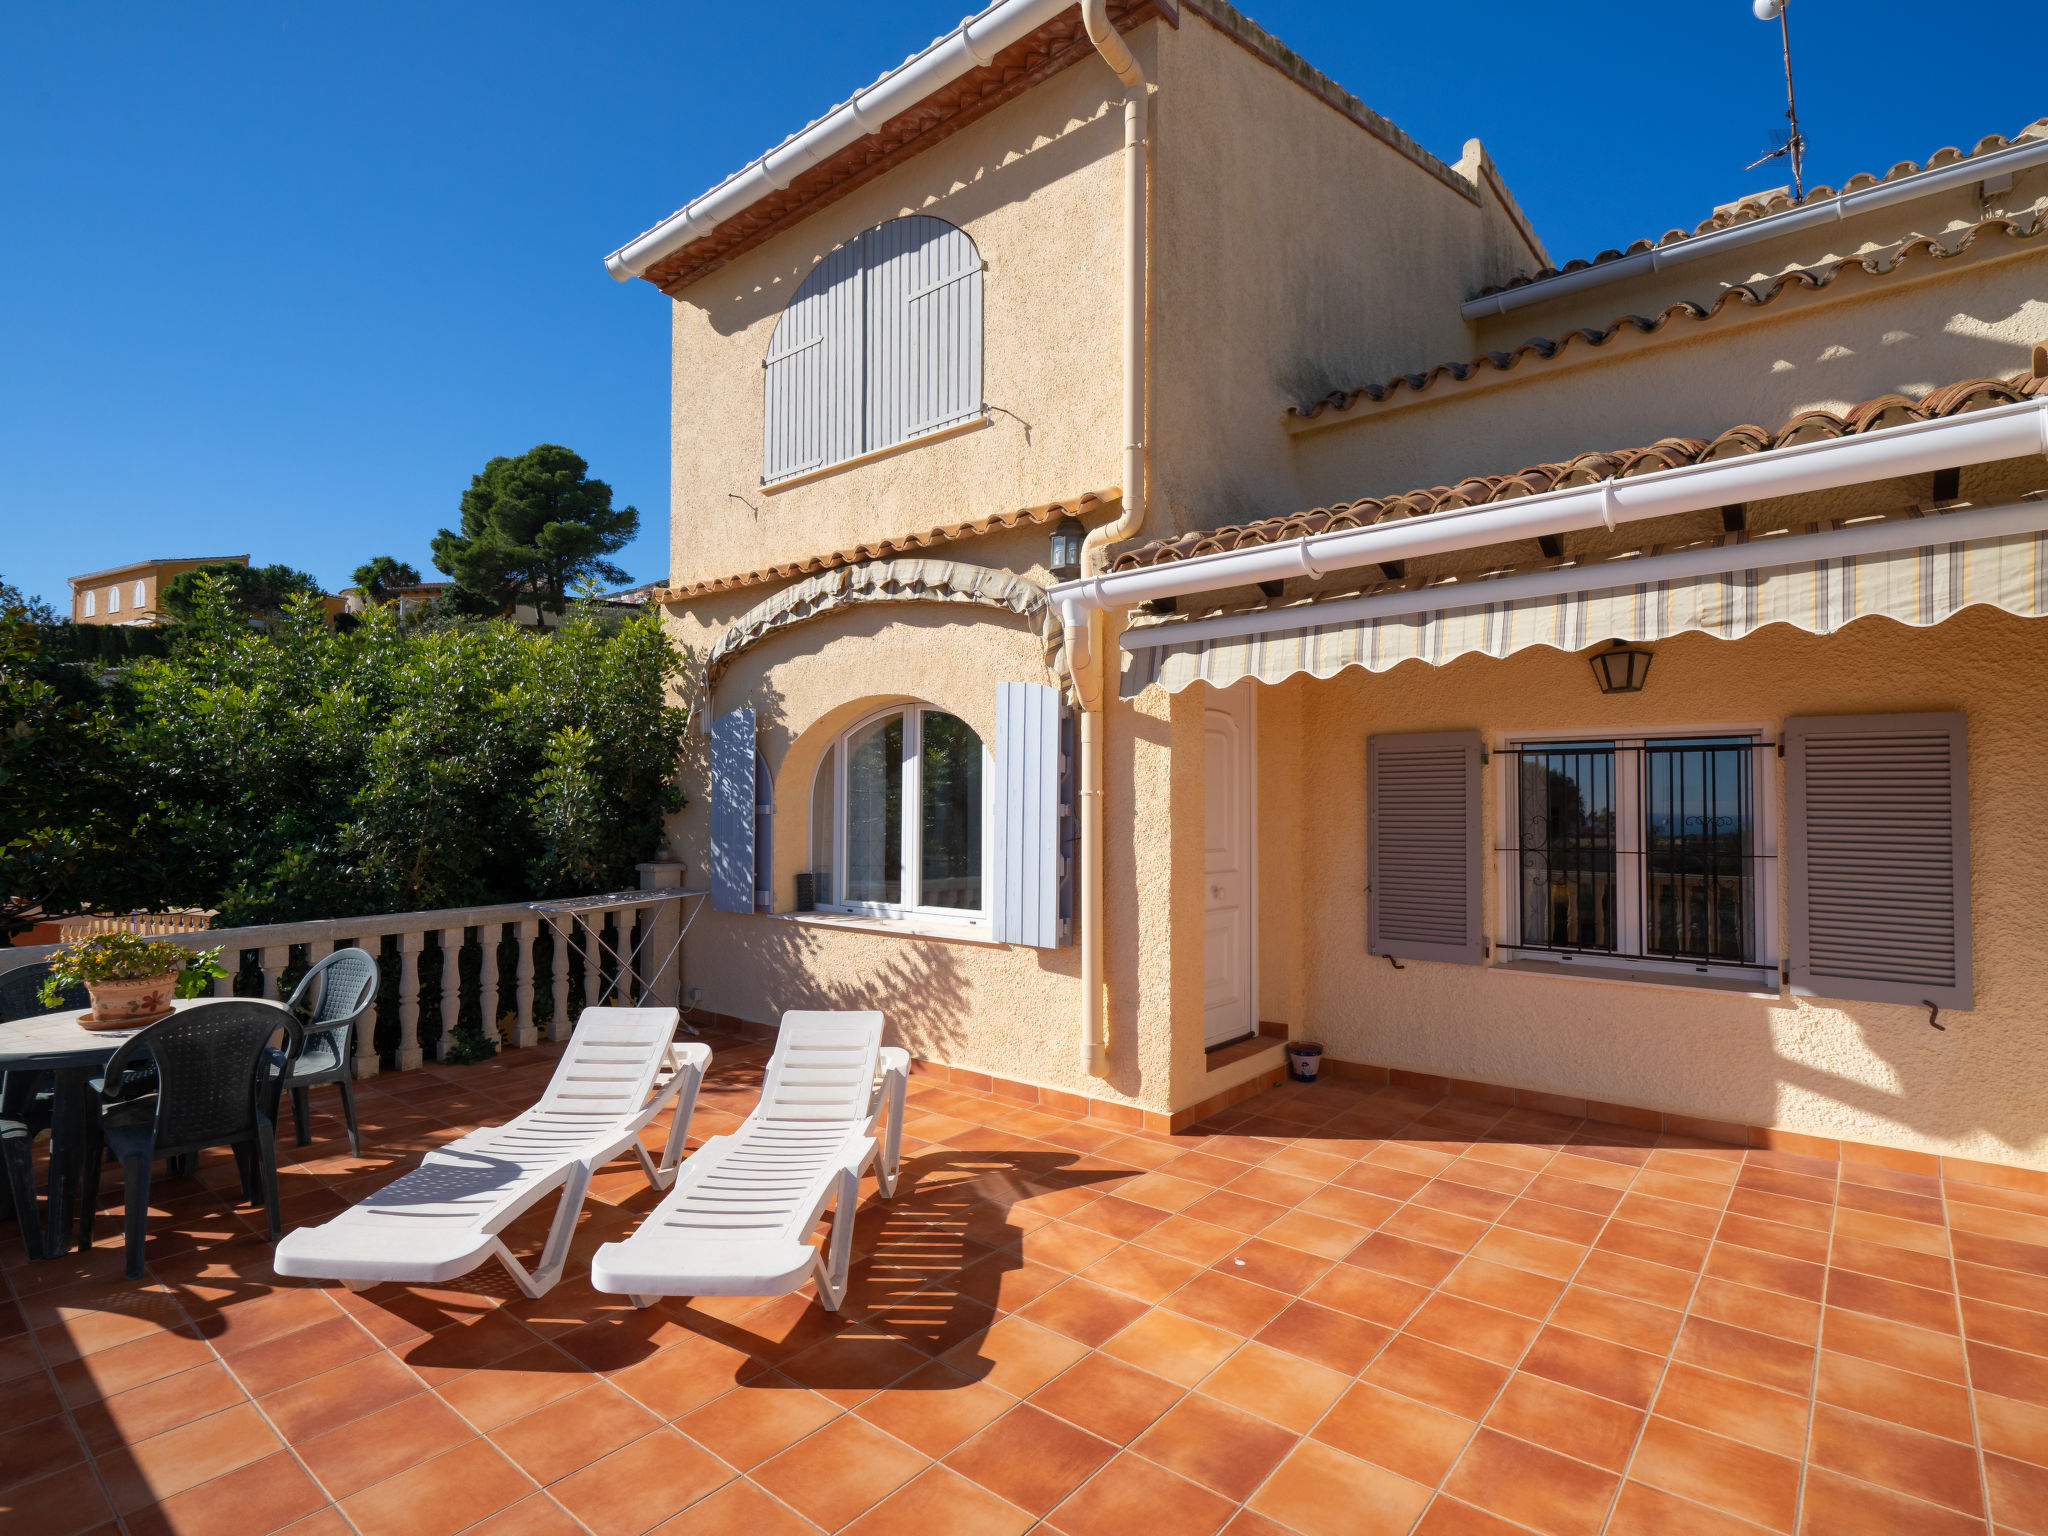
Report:
[[1366,739],[1366,948],[1479,965],[1479,731]]

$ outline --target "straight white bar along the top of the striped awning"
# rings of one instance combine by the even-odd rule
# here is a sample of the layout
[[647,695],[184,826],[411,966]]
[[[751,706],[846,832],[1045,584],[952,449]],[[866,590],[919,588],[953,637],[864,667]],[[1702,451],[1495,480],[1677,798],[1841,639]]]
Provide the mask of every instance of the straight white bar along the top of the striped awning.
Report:
[[1331,625],[1358,625],[1372,618],[1403,618],[1411,614],[1446,612],[1450,608],[1481,608],[1528,598],[1561,598],[1573,592],[1606,592],[1645,582],[1692,582],[1702,575],[1806,565],[1823,559],[1858,559],[1888,555],[1898,549],[1927,545],[1960,545],[1972,539],[2009,539],[2013,535],[2048,530],[2048,500],[2003,502],[1962,512],[1939,512],[1925,518],[1882,518],[1858,522],[1829,532],[1765,535],[1739,545],[1704,545],[1671,555],[1638,555],[1604,559],[1587,565],[1563,565],[1544,571],[1522,571],[1473,582],[1440,582],[1407,592],[1378,592],[1370,598],[1337,602],[1300,602],[1290,608],[1268,608],[1223,618],[1151,625],[1122,637],[1126,651],[1153,651],[1165,645],[1194,645],[1212,639],[1243,639]]

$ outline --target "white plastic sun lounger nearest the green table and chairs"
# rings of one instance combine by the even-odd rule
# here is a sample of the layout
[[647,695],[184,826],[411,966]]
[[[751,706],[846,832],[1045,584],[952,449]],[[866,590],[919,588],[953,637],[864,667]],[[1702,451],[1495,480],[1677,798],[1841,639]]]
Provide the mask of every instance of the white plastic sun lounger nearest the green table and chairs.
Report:
[[[272,1268],[367,1290],[438,1284],[498,1260],[520,1290],[543,1296],[561,1280],[592,1174],[631,1147],[653,1188],[676,1178],[709,1063],[709,1044],[676,1042],[674,1008],[586,1008],[539,1104],[430,1151],[334,1221],[285,1233]],[[674,1077],[653,1092],[664,1065]],[[676,1122],[655,1163],[639,1135],[670,1100]],[[561,1190],[555,1225],[528,1274],[500,1233],[551,1190]]]

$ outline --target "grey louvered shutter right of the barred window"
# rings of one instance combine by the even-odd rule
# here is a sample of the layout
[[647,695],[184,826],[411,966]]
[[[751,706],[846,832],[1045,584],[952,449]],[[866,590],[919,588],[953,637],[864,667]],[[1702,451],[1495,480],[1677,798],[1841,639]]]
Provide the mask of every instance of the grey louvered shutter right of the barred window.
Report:
[[1970,1008],[1962,715],[1786,721],[1792,991]]

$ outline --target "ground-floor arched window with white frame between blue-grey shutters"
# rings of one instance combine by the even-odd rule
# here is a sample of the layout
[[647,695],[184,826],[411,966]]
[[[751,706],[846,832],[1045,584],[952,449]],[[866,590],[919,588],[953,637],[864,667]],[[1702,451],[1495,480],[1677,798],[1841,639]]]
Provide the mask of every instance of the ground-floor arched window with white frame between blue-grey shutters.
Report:
[[987,752],[956,715],[872,715],[811,782],[811,879],[836,911],[987,913]]

